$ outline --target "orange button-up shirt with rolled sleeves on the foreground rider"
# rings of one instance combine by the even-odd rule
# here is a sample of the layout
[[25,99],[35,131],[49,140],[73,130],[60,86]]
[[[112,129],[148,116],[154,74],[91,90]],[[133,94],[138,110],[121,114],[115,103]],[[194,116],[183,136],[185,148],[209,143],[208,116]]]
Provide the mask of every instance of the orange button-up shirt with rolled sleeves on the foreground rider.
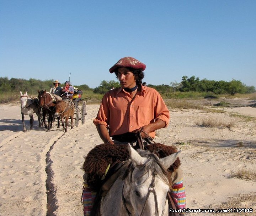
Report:
[[[102,98],[95,125],[105,125],[110,136],[134,132],[142,126],[161,119],[165,127],[170,113],[162,97],[155,89],[141,86],[134,100],[121,87],[108,91]],[[149,134],[155,137],[155,131]]]

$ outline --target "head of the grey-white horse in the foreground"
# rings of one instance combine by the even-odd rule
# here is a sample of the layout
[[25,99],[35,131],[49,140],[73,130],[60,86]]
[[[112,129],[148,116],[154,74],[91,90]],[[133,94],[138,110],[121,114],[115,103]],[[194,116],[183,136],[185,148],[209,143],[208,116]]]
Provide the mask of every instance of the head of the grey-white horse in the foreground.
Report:
[[[180,152],[159,159],[155,154],[128,147],[132,168],[126,178],[124,194],[132,215],[162,215],[166,195],[170,189],[171,176],[167,171]],[[130,206],[129,206],[130,205]]]

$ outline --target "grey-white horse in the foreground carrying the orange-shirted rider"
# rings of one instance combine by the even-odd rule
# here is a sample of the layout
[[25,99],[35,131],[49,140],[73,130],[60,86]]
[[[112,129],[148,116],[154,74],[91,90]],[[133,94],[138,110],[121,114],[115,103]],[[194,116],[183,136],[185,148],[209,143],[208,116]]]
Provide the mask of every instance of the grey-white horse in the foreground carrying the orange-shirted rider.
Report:
[[124,167],[126,174],[119,177],[101,199],[101,215],[164,215],[172,182],[167,167],[181,151],[159,159],[148,151],[138,150],[138,153],[130,145],[128,150],[131,164]]

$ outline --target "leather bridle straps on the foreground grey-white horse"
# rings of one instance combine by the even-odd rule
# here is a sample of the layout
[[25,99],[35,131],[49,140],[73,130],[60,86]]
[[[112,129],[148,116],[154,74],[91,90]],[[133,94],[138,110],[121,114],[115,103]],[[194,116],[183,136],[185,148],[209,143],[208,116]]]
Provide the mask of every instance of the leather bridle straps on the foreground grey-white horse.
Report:
[[[154,200],[155,200],[155,206],[156,206],[156,215],[159,216],[159,206],[158,206],[158,200],[157,200],[157,197],[156,197],[156,191],[155,191],[155,176],[157,175],[155,171],[152,172],[153,174],[153,177],[152,177],[152,180],[151,180],[151,183],[149,185],[149,188],[148,188],[148,193],[146,195],[146,200],[145,200],[145,203],[144,203],[144,206],[143,206],[143,209],[142,209],[142,212],[140,213],[140,216],[143,215],[144,211],[145,211],[145,208],[146,208],[146,203],[148,202],[148,199],[149,199],[149,195],[150,193],[153,193],[154,194]],[[131,174],[132,175],[132,174]],[[131,180],[130,180],[131,181]],[[124,181],[124,184],[125,184],[125,181]],[[128,210],[127,208],[127,205],[126,205],[126,199],[124,198],[124,184],[123,184],[123,189],[122,189],[122,200],[123,200],[123,204],[124,204],[124,207],[126,209],[126,212],[129,216],[132,215],[132,213]],[[162,212],[162,215],[164,214],[164,211]]]

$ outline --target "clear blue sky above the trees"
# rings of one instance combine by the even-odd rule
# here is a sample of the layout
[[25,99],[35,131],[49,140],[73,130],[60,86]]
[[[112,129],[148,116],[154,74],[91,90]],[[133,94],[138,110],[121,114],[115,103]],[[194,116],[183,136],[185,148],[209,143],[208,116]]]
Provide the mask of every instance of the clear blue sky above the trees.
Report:
[[0,0],[0,76],[115,80],[132,56],[148,84],[199,79],[256,86],[255,0]]

